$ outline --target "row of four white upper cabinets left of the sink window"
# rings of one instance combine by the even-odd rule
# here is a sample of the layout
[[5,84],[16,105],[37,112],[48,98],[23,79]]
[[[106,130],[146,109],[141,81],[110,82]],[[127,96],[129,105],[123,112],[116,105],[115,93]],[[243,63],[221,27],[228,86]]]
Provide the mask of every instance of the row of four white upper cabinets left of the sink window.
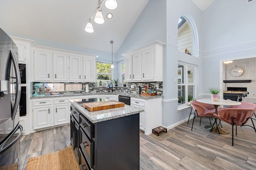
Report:
[[48,48],[34,49],[34,81],[95,82],[96,57]]

